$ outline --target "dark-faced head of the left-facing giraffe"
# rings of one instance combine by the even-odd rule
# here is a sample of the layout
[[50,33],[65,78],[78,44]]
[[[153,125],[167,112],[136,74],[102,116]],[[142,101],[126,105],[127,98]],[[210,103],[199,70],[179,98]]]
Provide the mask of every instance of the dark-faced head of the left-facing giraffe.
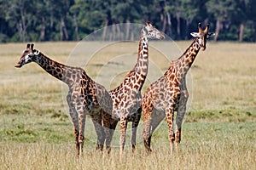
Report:
[[15,67],[20,68],[22,65],[26,65],[32,61],[35,60],[36,56],[40,54],[40,52],[37,49],[33,49],[34,44],[27,44],[26,49],[23,51],[23,54],[20,57],[20,60],[18,63],[16,63]]

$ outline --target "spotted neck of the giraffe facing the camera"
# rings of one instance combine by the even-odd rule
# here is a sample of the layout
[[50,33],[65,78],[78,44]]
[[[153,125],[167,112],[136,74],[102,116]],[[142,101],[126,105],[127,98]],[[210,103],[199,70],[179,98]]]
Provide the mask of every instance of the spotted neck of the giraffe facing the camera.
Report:
[[191,43],[184,54],[176,60],[175,67],[180,77],[186,76],[199,50],[200,43],[198,42],[198,38],[195,38],[194,42]]

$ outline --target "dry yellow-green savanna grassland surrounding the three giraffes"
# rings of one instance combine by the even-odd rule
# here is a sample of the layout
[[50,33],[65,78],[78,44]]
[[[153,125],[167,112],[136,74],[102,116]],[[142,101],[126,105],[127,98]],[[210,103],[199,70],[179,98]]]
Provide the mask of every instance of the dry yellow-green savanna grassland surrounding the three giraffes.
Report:
[[[190,43],[150,42],[143,91]],[[67,87],[35,63],[15,68],[25,47],[25,43],[0,44],[0,169],[256,169],[255,43],[208,42],[188,74],[189,109],[179,153],[170,156],[162,122],[152,138],[153,152],[147,155],[142,121],[137,152],[131,154],[128,135],[122,161],[115,147],[119,130],[111,154],[98,152],[90,117],[84,154],[77,159]],[[133,42],[38,42],[35,48],[61,63],[83,66],[108,89],[117,86],[137,60]]]

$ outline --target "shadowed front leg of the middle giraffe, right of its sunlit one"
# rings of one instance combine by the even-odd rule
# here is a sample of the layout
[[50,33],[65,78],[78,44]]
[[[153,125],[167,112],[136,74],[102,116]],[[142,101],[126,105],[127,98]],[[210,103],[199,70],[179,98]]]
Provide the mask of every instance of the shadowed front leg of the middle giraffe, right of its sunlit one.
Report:
[[142,116],[142,108],[139,108],[136,112],[135,120],[132,122],[131,125],[131,151],[134,153],[135,145],[136,145],[136,135],[137,135],[137,127],[140,122]]

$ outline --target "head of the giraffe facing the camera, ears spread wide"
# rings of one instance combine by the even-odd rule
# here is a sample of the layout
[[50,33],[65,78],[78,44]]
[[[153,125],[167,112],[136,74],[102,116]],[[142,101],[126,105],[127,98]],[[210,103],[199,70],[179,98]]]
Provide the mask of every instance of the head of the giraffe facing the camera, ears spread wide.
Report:
[[210,36],[214,36],[214,33],[209,33],[209,24],[207,24],[207,27],[203,30],[201,28],[201,23],[198,24],[198,30],[199,32],[191,32],[190,34],[198,39],[198,42],[200,44],[200,47],[202,50],[205,50],[207,48],[207,39]]

